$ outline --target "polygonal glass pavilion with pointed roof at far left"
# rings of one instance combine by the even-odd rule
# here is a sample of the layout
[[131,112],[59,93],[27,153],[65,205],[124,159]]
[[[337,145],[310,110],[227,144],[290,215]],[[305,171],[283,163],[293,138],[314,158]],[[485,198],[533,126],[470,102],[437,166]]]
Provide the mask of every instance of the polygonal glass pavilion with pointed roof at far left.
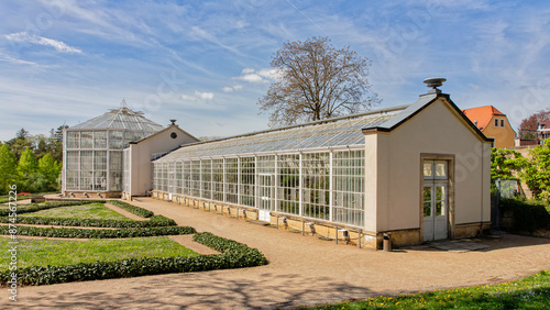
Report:
[[[125,107],[68,128],[63,139],[63,192],[103,192],[120,196],[122,150],[130,142],[163,130],[143,112]],[[117,193],[118,192],[118,193]]]

